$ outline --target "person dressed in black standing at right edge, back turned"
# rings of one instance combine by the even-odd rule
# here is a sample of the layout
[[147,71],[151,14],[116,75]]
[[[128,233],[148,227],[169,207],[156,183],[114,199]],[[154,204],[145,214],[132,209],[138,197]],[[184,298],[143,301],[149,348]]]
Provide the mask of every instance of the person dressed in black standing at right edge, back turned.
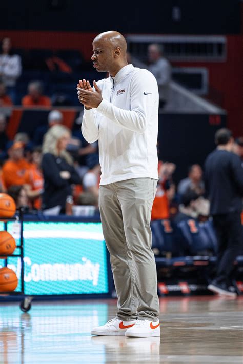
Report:
[[208,289],[228,296],[230,275],[242,245],[240,213],[243,197],[243,168],[238,155],[232,152],[234,139],[230,130],[222,128],[215,134],[216,150],[205,162],[205,185],[210,199],[210,213],[218,236],[216,277]]

